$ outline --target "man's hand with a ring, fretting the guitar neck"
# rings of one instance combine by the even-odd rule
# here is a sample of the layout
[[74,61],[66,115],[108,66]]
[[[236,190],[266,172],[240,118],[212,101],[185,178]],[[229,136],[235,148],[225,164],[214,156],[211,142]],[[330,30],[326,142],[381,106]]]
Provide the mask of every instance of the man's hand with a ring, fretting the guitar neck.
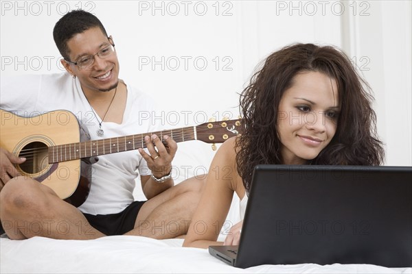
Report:
[[163,141],[165,141],[166,145],[163,145],[163,142],[155,134],[151,138],[145,136],[144,140],[150,155],[143,149],[139,149],[139,152],[148,163],[148,168],[152,171],[153,176],[161,178],[168,175],[172,171],[172,160],[177,151],[176,142],[165,135],[163,136]]

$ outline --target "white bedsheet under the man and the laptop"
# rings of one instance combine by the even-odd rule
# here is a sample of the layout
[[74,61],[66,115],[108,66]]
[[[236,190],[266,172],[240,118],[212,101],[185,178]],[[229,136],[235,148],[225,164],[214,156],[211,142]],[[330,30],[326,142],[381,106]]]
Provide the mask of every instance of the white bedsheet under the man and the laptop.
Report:
[[262,265],[237,269],[182,239],[108,236],[97,240],[0,239],[0,273],[412,273],[369,264]]

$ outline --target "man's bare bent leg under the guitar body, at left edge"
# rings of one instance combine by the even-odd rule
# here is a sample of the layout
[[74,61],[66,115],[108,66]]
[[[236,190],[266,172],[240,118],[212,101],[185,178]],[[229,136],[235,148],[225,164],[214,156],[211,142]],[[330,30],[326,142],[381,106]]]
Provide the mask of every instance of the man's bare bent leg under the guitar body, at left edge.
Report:
[[104,236],[51,188],[27,177],[15,177],[1,190],[0,220],[8,237],[16,240],[34,236],[76,240]]

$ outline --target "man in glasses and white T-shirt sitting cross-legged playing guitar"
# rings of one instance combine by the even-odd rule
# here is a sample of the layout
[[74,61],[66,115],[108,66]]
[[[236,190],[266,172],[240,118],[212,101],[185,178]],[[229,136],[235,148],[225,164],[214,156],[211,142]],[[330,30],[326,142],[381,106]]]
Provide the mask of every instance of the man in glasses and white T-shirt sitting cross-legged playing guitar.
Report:
[[[97,17],[82,10],[69,12],[56,23],[54,40],[67,73],[2,83],[1,109],[21,116],[69,110],[90,140],[154,131],[150,123],[139,121],[139,112],[152,112],[152,102],[118,79],[115,42]],[[89,197],[78,208],[52,188],[19,176],[14,164],[26,159],[0,149],[0,220],[6,234],[12,239],[185,234],[203,182],[192,178],[174,186],[170,172],[176,142],[156,135],[145,136],[144,142],[147,152],[99,156],[92,164]],[[133,200],[137,175],[148,201]]]

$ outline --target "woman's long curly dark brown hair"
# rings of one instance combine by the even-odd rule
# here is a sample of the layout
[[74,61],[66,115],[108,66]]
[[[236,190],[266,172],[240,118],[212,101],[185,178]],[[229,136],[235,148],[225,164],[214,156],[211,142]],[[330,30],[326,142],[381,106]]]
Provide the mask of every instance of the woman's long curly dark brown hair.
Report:
[[257,164],[282,164],[277,132],[279,101],[295,75],[304,71],[335,79],[341,104],[336,134],[307,164],[379,165],[384,161],[376,114],[371,108],[374,97],[347,55],[330,46],[289,45],[269,55],[240,93],[243,132],[236,140],[236,164],[247,192]]

